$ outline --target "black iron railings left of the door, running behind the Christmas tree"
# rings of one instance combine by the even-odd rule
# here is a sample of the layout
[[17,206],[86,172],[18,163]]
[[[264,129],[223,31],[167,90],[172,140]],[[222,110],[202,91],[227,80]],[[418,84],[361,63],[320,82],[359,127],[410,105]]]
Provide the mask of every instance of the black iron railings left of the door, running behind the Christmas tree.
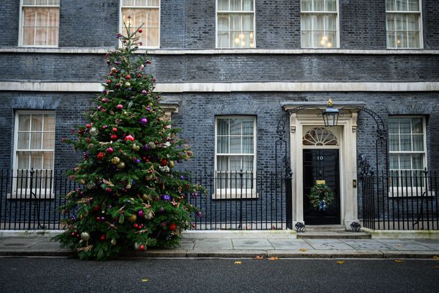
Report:
[[[187,195],[202,211],[192,229],[286,229],[291,178],[272,172],[194,172],[189,179],[207,190]],[[61,219],[69,215],[56,208],[75,188],[65,170],[1,170],[0,230],[59,230]]]

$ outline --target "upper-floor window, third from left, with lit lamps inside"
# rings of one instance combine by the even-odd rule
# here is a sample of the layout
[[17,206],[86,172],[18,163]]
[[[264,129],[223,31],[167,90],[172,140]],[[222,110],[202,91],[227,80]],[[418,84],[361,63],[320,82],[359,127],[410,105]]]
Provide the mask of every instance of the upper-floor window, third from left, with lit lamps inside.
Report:
[[217,0],[217,47],[256,47],[254,27],[254,0]]

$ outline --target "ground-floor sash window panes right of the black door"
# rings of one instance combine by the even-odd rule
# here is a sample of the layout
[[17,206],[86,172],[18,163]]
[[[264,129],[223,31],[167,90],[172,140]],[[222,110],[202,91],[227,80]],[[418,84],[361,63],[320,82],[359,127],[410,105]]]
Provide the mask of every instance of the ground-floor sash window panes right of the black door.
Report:
[[424,117],[389,118],[390,174],[394,188],[424,186],[425,133]]

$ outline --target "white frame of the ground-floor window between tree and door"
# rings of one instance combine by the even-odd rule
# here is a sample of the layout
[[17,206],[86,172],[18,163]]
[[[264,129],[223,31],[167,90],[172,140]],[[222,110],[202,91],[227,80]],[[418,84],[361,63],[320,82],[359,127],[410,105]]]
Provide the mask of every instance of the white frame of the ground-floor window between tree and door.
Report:
[[[253,119],[253,153],[252,154],[243,154],[243,153],[217,153],[217,122],[219,119]],[[217,157],[218,156],[253,156],[253,172],[245,172],[243,171],[242,178],[245,180],[245,176],[252,176],[252,188],[217,188],[215,181],[215,193],[212,195],[213,200],[241,200],[241,199],[252,199],[258,198],[259,195],[256,193],[256,129],[257,129],[257,119],[256,116],[247,116],[247,115],[226,115],[226,116],[217,116],[215,117],[215,179],[218,177],[217,175]],[[228,171],[235,172],[235,171]],[[237,171],[239,173],[239,171]]]

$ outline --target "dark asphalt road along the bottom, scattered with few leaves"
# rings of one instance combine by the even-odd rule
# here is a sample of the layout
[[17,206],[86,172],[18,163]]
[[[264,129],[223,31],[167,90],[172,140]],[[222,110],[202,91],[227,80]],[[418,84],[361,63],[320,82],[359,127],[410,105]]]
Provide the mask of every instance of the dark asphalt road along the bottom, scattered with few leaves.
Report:
[[338,262],[3,257],[0,292],[439,292],[439,260]]

